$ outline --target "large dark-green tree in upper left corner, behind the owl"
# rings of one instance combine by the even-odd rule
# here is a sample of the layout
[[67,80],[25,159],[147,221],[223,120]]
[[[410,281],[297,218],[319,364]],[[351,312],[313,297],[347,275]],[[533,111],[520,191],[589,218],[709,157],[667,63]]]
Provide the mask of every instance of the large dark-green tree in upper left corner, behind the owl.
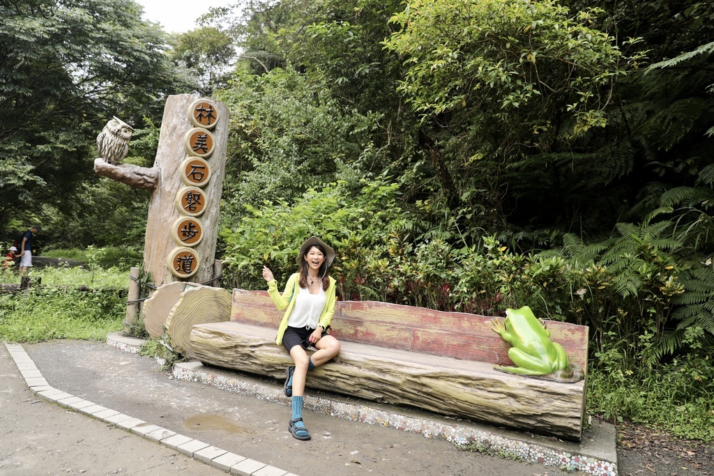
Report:
[[131,0],[0,2],[0,232],[76,207],[111,116],[158,115],[188,86]]

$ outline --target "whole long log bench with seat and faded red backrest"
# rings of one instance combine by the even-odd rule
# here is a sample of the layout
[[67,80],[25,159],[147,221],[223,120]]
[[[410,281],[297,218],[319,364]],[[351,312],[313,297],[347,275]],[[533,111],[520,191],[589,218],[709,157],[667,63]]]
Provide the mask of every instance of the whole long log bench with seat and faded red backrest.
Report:
[[[191,347],[210,365],[282,380],[292,360],[275,344],[283,312],[265,291],[233,290],[231,319],[194,325]],[[482,315],[373,301],[338,301],[336,358],[308,374],[311,388],[451,417],[580,440],[587,379],[577,383],[512,375],[500,335]],[[547,321],[551,339],[588,368],[588,328]]]

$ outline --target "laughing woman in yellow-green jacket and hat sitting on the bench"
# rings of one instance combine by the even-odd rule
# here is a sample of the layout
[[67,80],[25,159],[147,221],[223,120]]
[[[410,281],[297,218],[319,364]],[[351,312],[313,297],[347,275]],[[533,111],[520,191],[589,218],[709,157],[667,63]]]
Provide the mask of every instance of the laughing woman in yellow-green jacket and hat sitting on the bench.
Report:
[[[300,247],[296,262],[298,273],[288,278],[283,293],[273,272],[263,266],[263,278],[268,282],[268,294],[278,310],[286,309],[278,328],[276,343],[285,346],[294,366],[286,369],[283,391],[292,397],[293,415],[288,425],[291,435],[298,440],[309,440],[310,433],[303,423],[303,393],[308,370],[313,370],[337,355],[340,343],[327,333],[335,313],[336,282],[328,275],[335,252],[313,236]],[[317,351],[308,356],[306,349]]]

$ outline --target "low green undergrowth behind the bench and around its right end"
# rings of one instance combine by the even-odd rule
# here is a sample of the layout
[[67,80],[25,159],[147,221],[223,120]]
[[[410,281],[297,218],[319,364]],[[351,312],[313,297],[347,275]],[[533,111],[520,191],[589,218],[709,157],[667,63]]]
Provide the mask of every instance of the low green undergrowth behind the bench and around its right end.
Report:
[[588,325],[588,411],[714,438],[714,279],[700,276],[711,263],[693,265],[680,252],[672,223],[622,224],[619,236],[591,245],[566,235],[559,250],[521,254],[493,236],[471,246],[441,233],[415,236],[395,187],[366,183],[346,200],[341,186],[308,191],[293,207],[248,206],[250,216],[223,233],[228,273],[244,288],[264,289],[266,263],[284,283],[299,245],[316,234],[336,249],[331,273],[343,300],[482,315],[529,305],[540,318]]

